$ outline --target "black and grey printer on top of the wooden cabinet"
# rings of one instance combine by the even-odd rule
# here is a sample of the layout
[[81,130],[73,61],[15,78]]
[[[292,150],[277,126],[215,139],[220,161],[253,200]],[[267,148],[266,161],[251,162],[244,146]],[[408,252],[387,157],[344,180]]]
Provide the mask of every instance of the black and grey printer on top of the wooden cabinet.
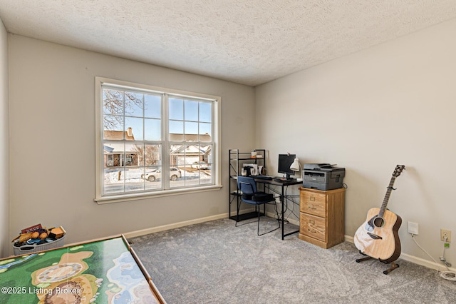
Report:
[[343,188],[345,168],[335,168],[329,163],[304,163],[302,181],[304,188],[332,190]]

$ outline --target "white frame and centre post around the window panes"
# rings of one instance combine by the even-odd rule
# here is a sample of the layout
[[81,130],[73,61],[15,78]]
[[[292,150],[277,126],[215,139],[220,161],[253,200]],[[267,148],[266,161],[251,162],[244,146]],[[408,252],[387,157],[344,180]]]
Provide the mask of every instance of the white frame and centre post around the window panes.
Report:
[[[150,91],[153,93],[165,93],[171,94],[173,96],[183,96],[189,98],[200,98],[205,100],[212,101],[212,176],[214,178],[214,183],[210,185],[201,185],[201,186],[189,186],[185,188],[167,188],[160,191],[142,191],[135,193],[122,193],[115,195],[103,195],[103,186],[104,186],[104,168],[103,168],[103,83],[110,86],[119,86],[123,89],[132,89],[132,90],[144,90]],[[202,93],[194,93],[188,91],[180,91],[170,88],[161,88],[157,86],[150,86],[147,84],[141,83],[132,83],[128,81],[120,81],[111,78],[104,77],[95,77],[95,198],[94,201],[98,204],[103,203],[117,203],[122,201],[133,201],[144,198],[157,198],[161,196],[172,196],[179,194],[187,193],[196,193],[202,191],[214,191],[222,188],[221,183],[221,149],[220,149],[220,103],[221,98],[219,96],[212,96]],[[168,118],[167,118],[167,109],[162,109],[164,112],[162,119],[162,133],[163,140],[169,142],[168,138]],[[166,117],[165,117],[166,116]],[[166,139],[165,139],[166,138]],[[169,149],[166,150],[163,146],[162,159],[166,160],[169,157]],[[165,166],[165,163],[163,164]],[[166,168],[166,167],[164,167]],[[165,174],[165,172],[163,172]],[[166,179],[163,179],[166,181]]]

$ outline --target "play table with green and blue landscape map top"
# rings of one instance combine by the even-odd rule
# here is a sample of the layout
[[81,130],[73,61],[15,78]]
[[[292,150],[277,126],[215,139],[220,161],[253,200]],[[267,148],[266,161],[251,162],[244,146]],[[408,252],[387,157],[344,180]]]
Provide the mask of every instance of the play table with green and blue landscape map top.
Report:
[[0,303],[165,303],[123,235],[0,260]]

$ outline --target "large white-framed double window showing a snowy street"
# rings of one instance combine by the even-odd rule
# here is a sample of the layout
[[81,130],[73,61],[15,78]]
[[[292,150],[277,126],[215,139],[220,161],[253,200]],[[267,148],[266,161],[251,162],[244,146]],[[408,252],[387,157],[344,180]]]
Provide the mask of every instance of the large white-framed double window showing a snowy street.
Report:
[[95,201],[220,188],[217,96],[95,78]]

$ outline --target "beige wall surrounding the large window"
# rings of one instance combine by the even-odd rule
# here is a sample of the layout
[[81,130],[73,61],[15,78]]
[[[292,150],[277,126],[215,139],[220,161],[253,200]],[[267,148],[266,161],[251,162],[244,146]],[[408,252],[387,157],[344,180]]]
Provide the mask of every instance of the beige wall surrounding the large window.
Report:
[[[10,237],[62,225],[66,243],[228,212],[229,148],[253,146],[254,88],[10,35]],[[221,191],[98,205],[95,76],[222,96]],[[234,223],[233,223],[234,225]]]

